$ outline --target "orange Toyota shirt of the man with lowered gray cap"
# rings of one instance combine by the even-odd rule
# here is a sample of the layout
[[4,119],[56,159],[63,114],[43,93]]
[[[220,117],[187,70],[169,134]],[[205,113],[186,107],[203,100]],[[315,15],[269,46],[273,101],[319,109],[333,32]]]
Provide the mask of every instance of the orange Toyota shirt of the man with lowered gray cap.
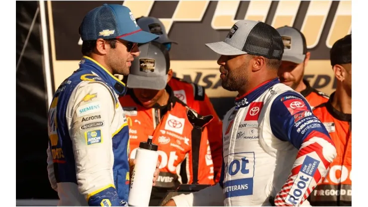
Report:
[[[186,117],[188,107],[174,96],[170,87],[166,90],[171,94],[167,106],[145,108],[131,90],[119,101],[129,125],[129,157],[134,158],[139,143],[147,141],[148,135],[152,135],[153,143],[159,146],[161,162],[156,187],[175,189],[180,182],[192,182],[193,126]],[[213,161],[207,137],[207,129],[204,128],[198,147],[198,183],[212,185]]]

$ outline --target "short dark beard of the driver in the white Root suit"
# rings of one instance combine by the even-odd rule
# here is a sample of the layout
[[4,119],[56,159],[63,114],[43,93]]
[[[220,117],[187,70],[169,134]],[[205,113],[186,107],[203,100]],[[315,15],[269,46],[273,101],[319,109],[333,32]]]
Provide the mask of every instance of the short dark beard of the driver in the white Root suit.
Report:
[[248,82],[248,74],[246,72],[247,65],[244,63],[233,71],[227,71],[225,80],[222,80],[221,86],[227,91],[239,91]]

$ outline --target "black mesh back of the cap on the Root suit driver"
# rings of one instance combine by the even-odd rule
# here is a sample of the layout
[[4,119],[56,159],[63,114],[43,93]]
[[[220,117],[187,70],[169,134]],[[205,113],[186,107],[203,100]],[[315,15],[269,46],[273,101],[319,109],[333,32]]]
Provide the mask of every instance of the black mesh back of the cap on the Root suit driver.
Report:
[[281,60],[283,54],[281,36],[274,27],[264,22],[259,22],[248,34],[243,51],[268,59]]

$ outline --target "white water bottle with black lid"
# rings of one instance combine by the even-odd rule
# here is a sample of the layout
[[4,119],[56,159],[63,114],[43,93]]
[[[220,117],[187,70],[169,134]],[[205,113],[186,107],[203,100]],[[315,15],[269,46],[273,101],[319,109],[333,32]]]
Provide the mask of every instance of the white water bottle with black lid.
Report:
[[152,136],[147,142],[141,142],[135,154],[135,166],[130,182],[128,205],[148,207],[152,192],[153,174],[156,170],[159,154],[158,146],[152,144]]

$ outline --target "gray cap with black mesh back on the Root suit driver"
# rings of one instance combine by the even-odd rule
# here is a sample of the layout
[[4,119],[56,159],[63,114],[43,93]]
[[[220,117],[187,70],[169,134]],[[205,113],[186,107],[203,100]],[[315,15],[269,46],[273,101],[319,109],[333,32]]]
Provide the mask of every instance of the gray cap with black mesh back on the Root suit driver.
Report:
[[264,22],[240,20],[231,27],[222,42],[207,43],[220,55],[260,55],[281,60],[283,44],[276,29]]

